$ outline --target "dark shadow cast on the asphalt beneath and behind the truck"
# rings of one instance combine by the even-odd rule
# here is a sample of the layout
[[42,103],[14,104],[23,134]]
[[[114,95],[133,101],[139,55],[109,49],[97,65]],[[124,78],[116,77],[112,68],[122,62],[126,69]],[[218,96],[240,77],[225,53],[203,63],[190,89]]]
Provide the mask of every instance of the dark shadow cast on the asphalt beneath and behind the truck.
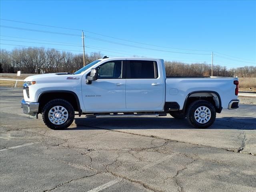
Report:
[[[186,119],[132,117],[132,118],[75,118],[76,128],[66,130],[92,129],[195,129]],[[256,118],[253,117],[223,117],[216,118],[208,129],[256,130]]]

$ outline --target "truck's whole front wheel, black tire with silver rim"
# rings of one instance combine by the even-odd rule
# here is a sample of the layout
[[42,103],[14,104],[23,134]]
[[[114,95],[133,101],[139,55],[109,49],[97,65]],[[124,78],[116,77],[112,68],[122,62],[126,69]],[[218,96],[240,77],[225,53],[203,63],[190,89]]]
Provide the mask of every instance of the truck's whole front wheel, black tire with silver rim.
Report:
[[42,110],[42,119],[46,126],[54,130],[68,128],[74,120],[74,108],[66,100],[49,101]]

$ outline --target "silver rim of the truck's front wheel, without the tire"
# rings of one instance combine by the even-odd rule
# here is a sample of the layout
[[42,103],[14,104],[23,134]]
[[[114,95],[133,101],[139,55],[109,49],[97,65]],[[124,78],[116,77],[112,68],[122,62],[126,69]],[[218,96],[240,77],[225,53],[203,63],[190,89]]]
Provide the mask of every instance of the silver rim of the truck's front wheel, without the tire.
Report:
[[64,124],[68,120],[68,111],[62,106],[54,106],[50,109],[48,118],[55,125]]

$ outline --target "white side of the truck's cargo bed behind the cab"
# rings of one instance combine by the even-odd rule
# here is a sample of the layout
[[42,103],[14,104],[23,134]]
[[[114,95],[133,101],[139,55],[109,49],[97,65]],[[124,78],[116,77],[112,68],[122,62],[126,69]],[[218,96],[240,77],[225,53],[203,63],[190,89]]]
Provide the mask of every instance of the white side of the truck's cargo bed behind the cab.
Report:
[[193,92],[216,92],[220,96],[223,109],[228,108],[231,99],[236,99],[234,81],[231,77],[167,77],[166,102],[177,102],[180,110],[184,98]]

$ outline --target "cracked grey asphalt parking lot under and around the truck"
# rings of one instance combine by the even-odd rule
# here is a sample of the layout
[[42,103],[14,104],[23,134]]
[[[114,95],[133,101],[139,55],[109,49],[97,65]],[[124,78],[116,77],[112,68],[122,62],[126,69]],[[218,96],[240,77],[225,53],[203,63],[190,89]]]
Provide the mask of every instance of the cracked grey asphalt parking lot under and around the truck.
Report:
[[55,131],[21,99],[0,87],[1,191],[256,191],[255,105],[223,110],[208,129],[167,116],[76,118]]

